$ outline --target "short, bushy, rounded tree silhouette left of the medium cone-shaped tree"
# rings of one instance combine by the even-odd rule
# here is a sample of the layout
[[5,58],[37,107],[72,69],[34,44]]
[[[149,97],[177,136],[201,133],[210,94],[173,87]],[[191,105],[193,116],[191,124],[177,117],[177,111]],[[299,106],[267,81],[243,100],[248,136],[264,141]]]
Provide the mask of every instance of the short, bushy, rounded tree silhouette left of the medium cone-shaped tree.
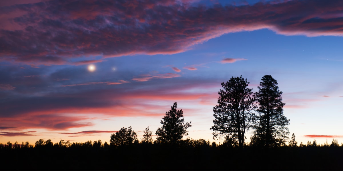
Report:
[[137,139],[137,134],[132,131],[132,127],[121,128],[118,132],[111,135],[110,145],[131,145]]

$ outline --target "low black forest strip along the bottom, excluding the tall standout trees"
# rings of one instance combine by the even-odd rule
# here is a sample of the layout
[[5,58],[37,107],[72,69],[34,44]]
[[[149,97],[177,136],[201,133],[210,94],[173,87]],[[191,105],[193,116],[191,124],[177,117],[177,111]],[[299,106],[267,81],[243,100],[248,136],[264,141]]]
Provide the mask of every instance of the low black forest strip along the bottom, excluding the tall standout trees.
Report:
[[41,139],[35,144],[2,145],[6,170],[343,170],[343,145],[336,140],[268,150],[188,138],[177,146],[142,141],[111,145],[101,140],[44,144]]

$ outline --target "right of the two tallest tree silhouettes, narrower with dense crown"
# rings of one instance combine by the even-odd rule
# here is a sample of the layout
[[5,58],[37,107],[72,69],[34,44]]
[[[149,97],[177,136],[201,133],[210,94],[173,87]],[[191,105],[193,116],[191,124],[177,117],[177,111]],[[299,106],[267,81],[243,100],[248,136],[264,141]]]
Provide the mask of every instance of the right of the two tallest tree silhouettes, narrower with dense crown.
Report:
[[283,115],[285,103],[282,103],[282,92],[272,76],[265,75],[261,80],[259,91],[254,94],[258,103],[258,115],[251,142],[267,148],[284,145],[289,135],[289,120]]

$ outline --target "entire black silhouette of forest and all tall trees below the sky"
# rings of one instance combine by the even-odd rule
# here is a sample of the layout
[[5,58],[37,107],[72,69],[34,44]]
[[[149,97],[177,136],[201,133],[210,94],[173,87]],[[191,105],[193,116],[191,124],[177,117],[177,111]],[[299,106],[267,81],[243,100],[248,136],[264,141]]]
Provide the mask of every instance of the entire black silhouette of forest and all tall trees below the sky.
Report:
[[[142,139],[132,127],[121,128],[109,143],[39,139],[0,144],[9,170],[343,170],[343,143],[333,139],[318,144],[288,141],[289,120],[283,115],[282,92],[270,75],[252,93],[247,79],[232,77],[222,83],[213,108],[213,139],[182,139],[191,121],[175,102],[155,134],[147,127]],[[245,132],[252,130],[250,143]],[[20,162],[21,165],[16,165]]]

